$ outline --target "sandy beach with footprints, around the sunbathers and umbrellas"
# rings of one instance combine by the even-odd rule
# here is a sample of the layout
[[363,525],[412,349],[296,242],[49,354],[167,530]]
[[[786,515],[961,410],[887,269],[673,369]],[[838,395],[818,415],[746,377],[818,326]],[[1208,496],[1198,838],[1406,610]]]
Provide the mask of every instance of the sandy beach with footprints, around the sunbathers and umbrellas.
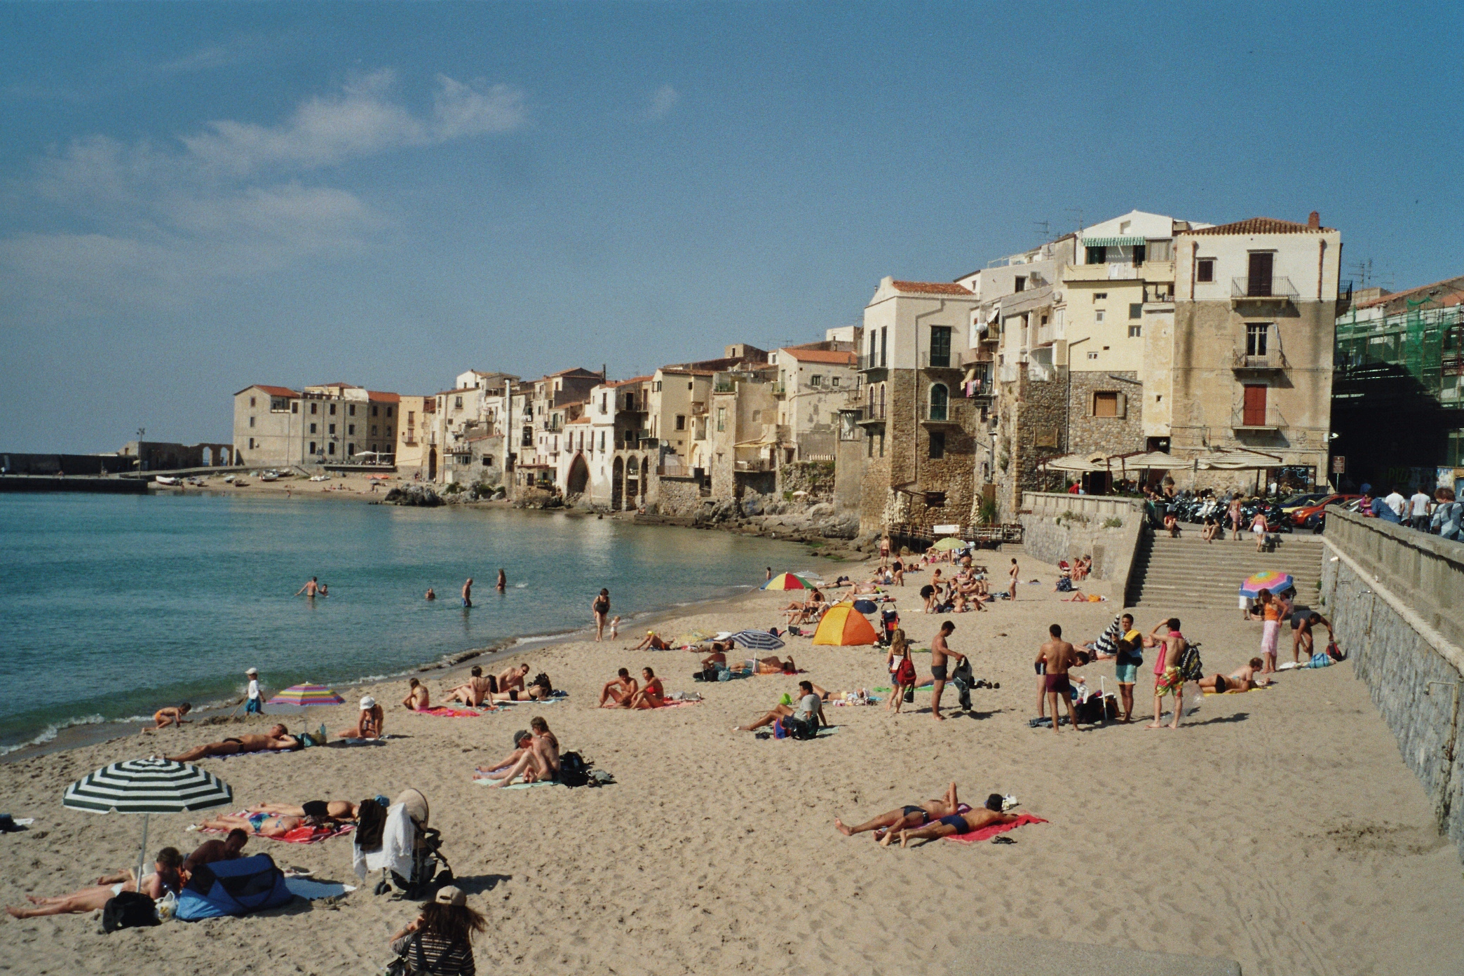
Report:
[[[997,569],[1007,558],[987,555]],[[477,718],[406,713],[406,682],[338,688],[388,704],[381,746],[203,759],[236,808],[315,797],[360,799],[411,786],[432,803],[445,853],[490,929],[480,972],[940,972],[982,935],[1237,960],[1246,973],[1458,973],[1464,879],[1423,792],[1344,663],[1285,673],[1278,686],[1208,697],[1177,732],[1145,723],[1080,732],[1031,729],[1032,658],[1047,625],[1095,637],[1116,601],[1075,604],[1056,571],[1022,559],[1016,603],[953,615],[952,645],[1000,689],[976,711],[931,720],[928,692],[900,716],[829,708],[837,735],[757,739],[731,727],[770,708],[795,679],[701,685],[684,651],[571,641],[527,654],[569,698]],[[928,647],[941,616],[918,613],[922,575],[896,590],[903,625]],[[1099,591],[1102,591],[1099,584]],[[782,625],[788,594],[754,593],[688,607],[663,634]],[[1152,617],[1152,619],[1151,619]],[[1139,615],[1148,631],[1157,615]],[[577,622],[567,622],[574,625]],[[1208,673],[1255,654],[1259,623],[1233,612],[1184,619]],[[884,653],[792,638],[807,677],[830,691],[886,685]],[[1282,660],[1285,660],[1285,654]],[[916,656],[922,676],[928,656]],[[706,701],[659,711],[597,710],[616,667],[656,669],[669,691]],[[461,672],[455,672],[461,673]],[[1111,663],[1079,669],[1114,689]],[[1140,672],[1146,675],[1146,672]],[[452,675],[427,676],[433,698]],[[1193,686],[1192,686],[1193,688]],[[1149,717],[1140,676],[1139,714]],[[956,704],[947,689],[947,708]],[[603,789],[493,790],[471,781],[509,736],[543,716],[564,749],[615,774]],[[340,729],[354,708],[316,708],[310,727]],[[291,730],[302,723],[291,721]],[[265,724],[256,720],[255,724]],[[25,833],[0,840],[0,901],[60,894],[135,863],[141,819],[63,809],[66,784],[111,761],[173,754],[237,733],[189,726],[0,765],[0,796]],[[979,805],[1010,793],[1047,819],[1016,844],[934,841],[881,849],[842,837],[856,822],[938,796],[956,781]],[[149,849],[187,852],[196,818],[154,817]],[[316,846],[252,840],[284,865],[354,884],[350,840]],[[151,853],[151,852],[149,852]],[[337,904],[296,901],[244,919],[168,922],[111,936],[97,915],[0,919],[0,945],[23,973],[362,973],[388,961],[386,938],[414,906],[363,887]]]

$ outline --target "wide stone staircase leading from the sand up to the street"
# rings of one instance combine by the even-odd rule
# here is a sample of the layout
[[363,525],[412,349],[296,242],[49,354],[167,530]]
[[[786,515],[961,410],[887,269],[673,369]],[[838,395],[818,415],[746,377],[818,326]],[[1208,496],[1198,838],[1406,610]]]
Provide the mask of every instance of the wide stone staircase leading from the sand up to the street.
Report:
[[1199,525],[1189,525],[1179,538],[1164,531],[1139,541],[1129,578],[1126,604],[1158,610],[1234,610],[1241,581],[1263,569],[1296,577],[1296,601],[1313,606],[1322,578],[1322,537],[1310,533],[1280,536],[1275,552],[1256,553],[1250,533],[1240,541],[1217,538],[1206,543]]

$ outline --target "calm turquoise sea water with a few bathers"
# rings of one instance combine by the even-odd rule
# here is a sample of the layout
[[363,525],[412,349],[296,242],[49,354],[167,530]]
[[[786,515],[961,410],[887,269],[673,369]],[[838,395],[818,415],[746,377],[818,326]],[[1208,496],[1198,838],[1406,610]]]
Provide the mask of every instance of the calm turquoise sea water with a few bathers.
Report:
[[[802,553],[499,508],[0,495],[0,746],[237,695],[250,666],[277,691],[577,629],[600,587],[622,616],[725,596]],[[293,596],[312,575],[329,596]],[[470,610],[458,600],[467,577]]]

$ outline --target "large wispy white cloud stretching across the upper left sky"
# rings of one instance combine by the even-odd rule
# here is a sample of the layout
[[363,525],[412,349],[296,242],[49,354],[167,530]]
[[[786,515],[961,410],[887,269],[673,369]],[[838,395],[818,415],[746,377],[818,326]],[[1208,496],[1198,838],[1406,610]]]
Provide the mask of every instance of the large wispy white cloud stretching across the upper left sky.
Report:
[[[124,304],[180,306],[230,279],[369,246],[386,224],[356,193],[322,184],[350,158],[524,124],[507,85],[438,76],[429,110],[376,72],[302,102],[275,126],[212,121],[176,143],[75,139],[13,187],[38,222],[67,230],[0,239],[0,313],[40,318]],[[306,181],[309,180],[309,181]]]

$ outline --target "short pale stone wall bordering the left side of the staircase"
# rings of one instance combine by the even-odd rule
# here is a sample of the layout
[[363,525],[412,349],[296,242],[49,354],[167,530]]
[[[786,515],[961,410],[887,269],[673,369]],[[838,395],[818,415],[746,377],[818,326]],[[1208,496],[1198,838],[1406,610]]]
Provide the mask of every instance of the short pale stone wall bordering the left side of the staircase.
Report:
[[[1143,506],[1124,498],[1025,492],[1022,547],[1042,562],[1092,556],[1095,579],[1114,584],[1121,600],[1143,534]],[[1117,519],[1118,525],[1104,527]]]

